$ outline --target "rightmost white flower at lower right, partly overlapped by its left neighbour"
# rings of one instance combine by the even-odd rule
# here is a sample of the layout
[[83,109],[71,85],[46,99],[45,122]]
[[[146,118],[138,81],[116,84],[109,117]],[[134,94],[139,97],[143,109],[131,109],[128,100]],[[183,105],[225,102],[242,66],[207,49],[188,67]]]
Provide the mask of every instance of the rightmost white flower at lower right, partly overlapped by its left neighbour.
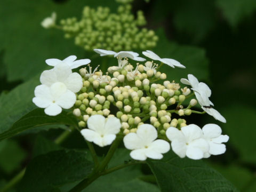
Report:
[[211,155],[220,155],[225,153],[226,146],[222,142],[227,142],[228,135],[221,134],[221,128],[216,124],[206,124],[203,126],[203,138],[209,143],[209,151],[204,154],[204,157]]

